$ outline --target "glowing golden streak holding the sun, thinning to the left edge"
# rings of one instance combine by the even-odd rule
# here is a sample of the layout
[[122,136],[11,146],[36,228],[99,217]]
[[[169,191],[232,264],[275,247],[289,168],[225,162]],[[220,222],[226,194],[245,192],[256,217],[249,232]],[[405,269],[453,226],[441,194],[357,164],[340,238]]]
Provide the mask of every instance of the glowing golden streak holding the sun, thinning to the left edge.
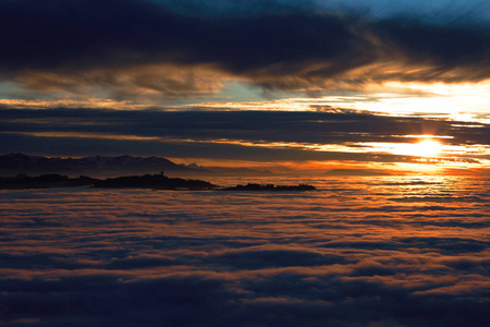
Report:
[[[7,132],[2,132],[7,133]],[[299,152],[323,153],[328,161],[348,156],[356,157],[358,162],[376,161],[382,162],[382,156],[394,156],[392,164],[412,164],[417,169],[439,169],[439,168],[462,168],[462,167],[490,167],[490,160],[486,157],[490,154],[490,146],[487,145],[451,145],[439,140],[451,138],[451,136],[431,135],[405,135],[399,136],[401,142],[346,142],[344,144],[319,144],[319,143],[297,143],[297,142],[266,142],[234,138],[191,138],[191,137],[168,137],[149,135],[130,135],[117,133],[94,133],[94,132],[10,132],[10,134],[30,135],[36,137],[56,138],[93,138],[133,142],[154,142],[166,144],[205,144],[210,146],[234,145],[244,148],[268,148],[268,149],[291,149]],[[0,133],[1,134],[1,133]],[[403,138],[416,138],[415,142],[403,142]],[[417,140],[418,138],[418,140]],[[381,156],[381,157],[380,157]],[[326,157],[326,158],[327,158]],[[366,161],[367,160],[367,161]],[[272,160],[274,161],[274,160]],[[201,165],[199,162],[199,165]],[[330,165],[330,164],[329,164]],[[378,165],[378,164],[377,164]],[[375,166],[377,166],[375,165]],[[218,165],[220,166],[220,165]],[[232,165],[235,166],[235,165]],[[307,164],[310,166],[310,162]],[[352,166],[352,165],[350,165]],[[379,168],[379,167],[378,167]],[[395,167],[392,167],[395,168]],[[404,169],[404,167],[401,167]],[[396,168],[395,168],[396,169]],[[412,168],[411,168],[412,169]]]

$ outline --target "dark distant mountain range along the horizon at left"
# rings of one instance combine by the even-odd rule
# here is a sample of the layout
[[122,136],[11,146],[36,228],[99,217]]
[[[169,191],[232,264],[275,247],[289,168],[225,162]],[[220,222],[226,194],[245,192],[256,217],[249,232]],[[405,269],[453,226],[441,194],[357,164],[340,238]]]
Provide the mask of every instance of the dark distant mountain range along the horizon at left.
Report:
[[105,157],[60,158],[9,154],[0,156],[0,175],[61,173],[114,177],[122,174],[160,173],[180,175],[264,174],[244,168],[205,168],[197,165],[177,165],[161,157]]

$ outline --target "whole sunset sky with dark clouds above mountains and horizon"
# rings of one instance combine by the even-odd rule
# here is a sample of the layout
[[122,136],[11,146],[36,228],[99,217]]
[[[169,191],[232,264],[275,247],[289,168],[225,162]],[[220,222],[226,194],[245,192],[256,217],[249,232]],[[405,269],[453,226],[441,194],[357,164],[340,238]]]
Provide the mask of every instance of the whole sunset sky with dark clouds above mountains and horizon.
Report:
[[488,1],[0,1],[0,153],[485,172]]

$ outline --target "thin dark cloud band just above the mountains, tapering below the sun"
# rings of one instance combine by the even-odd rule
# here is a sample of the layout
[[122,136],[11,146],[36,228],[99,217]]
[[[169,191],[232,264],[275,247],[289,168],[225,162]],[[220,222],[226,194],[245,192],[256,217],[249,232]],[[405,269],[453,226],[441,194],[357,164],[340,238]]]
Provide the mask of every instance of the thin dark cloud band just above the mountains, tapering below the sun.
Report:
[[166,156],[181,158],[211,158],[230,160],[304,161],[304,160],[360,160],[360,161],[411,161],[413,158],[394,155],[365,155],[339,152],[307,152],[303,149],[274,149],[233,144],[173,143],[100,140],[98,137],[38,137],[17,134],[0,134],[3,153],[25,152],[53,156],[91,156],[103,154],[117,156],[133,154],[138,156]]

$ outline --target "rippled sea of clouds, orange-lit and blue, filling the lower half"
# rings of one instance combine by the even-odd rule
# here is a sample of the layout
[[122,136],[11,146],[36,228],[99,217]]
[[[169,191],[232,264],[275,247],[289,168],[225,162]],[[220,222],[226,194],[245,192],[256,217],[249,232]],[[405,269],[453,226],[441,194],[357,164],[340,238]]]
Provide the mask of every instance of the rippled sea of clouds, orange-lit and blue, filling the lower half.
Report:
[[0,326],[488,324],[490,180],[315,185],[0,191]]

